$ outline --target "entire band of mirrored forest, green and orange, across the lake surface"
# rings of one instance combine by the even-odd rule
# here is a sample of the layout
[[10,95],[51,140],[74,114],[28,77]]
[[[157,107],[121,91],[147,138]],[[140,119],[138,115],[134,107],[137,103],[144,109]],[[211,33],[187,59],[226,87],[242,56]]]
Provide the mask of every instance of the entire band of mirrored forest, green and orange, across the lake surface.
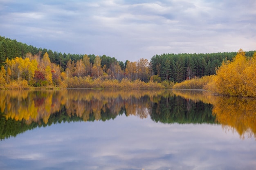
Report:
[[168,124],[220,123],[241,137],[256,133],[254,99],[227,99],[205,91],[69,89],[0,91],[0,96],[1,139],[38,126],[106,121],[121,114]]

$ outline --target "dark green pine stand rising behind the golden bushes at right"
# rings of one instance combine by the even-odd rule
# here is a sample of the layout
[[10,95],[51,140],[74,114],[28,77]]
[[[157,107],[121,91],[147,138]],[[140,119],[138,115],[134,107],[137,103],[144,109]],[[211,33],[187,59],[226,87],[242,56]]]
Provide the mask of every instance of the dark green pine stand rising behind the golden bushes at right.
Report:
[[[245,55],[252,57],[254,52],[248,51]],[[183,82],[193,77],[216,74],[216,68],[223,61],[231,61],[236,54],[237,52],[155,55],[150,60],[149,68],[152,75],[159,75],[162,81]]]

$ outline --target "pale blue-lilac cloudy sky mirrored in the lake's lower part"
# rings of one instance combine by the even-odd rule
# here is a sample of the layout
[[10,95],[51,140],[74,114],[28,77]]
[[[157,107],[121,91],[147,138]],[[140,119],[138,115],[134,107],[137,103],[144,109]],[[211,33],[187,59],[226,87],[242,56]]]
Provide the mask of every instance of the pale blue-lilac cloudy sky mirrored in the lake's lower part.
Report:
[[0,169],[252,170],[254,137],[218,124],[162,124],[119,115],[36,128],[0,141]]

